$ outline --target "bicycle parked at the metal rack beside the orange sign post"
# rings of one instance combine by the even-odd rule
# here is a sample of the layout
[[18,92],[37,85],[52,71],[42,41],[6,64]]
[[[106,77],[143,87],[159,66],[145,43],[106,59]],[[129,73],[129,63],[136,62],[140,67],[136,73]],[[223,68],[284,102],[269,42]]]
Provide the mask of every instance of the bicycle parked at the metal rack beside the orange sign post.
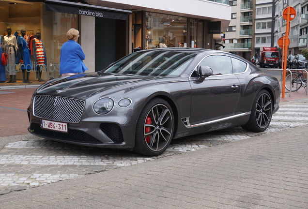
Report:
[[[285,88],[286,90],[290,91],[290,78],[291,78],[291,74],[288,73],[286,75],[286,84],[285,84]],[[303,87],[306,91],[306,86],[307,86],[307,80],[304,77],[303,71],[292,71],[292,84],[291,84],[291,91],[297,91],[299,90],[301,87]]]

